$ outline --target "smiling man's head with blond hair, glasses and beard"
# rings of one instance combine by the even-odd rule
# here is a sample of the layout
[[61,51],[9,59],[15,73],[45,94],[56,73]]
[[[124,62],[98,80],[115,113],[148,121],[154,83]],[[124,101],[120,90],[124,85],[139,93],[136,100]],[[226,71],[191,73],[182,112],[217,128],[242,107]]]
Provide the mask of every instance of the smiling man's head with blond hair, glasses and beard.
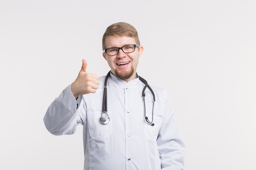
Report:
[[110,25],[103,35],[102,48],[104,50],[102,55],[107,60],[113,75],[126,82],[136,78],[143,46],[140,46],[138,33],[132,25],[125,22]]

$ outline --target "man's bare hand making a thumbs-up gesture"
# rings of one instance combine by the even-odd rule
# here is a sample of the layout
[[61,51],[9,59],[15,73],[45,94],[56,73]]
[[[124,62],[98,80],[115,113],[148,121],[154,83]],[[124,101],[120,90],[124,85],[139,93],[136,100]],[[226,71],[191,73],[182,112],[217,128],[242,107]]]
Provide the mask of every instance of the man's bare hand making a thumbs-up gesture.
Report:
[[82,68],[76,78],[71,84],[71,91],[75,98],[79,95],[88,93],[95,93],[99,88],[99,77],[92,73],[86,73],[87,62],[83,59]]

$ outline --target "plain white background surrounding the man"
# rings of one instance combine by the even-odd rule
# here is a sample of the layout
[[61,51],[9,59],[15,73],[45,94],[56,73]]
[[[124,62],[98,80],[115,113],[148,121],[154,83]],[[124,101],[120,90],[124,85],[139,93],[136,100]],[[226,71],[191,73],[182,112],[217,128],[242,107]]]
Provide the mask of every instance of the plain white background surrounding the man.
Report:
[[54,136],[43,116],[82,59],[110,70],[101,38],[139,33],[137,72],[171,98],[186,170],[256,170],[254,0],[0,0],[0,169],[82,170],[82,126]]

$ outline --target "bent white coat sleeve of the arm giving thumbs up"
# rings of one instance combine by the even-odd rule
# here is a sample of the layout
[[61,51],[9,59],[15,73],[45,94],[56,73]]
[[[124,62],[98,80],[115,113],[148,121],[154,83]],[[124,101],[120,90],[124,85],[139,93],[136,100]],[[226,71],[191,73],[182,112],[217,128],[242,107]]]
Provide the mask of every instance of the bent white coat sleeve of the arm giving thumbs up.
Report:
[[71,92],[71,85],[50,104],[43,118],[45,127],[53,135],[71,135],[76,131],[76,126],[83,124],[85,111],[80,107],[82,95],[76,100]]

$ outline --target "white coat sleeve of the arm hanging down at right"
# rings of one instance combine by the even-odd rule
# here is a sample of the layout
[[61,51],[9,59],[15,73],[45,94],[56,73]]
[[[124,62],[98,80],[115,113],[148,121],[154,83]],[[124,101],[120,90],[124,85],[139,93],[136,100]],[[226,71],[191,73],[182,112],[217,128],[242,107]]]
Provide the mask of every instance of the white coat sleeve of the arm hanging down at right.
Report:
[[157,138],[162,170],[184,170],[185,145],[181,139],[170,99],[165,91],[162,126]]

